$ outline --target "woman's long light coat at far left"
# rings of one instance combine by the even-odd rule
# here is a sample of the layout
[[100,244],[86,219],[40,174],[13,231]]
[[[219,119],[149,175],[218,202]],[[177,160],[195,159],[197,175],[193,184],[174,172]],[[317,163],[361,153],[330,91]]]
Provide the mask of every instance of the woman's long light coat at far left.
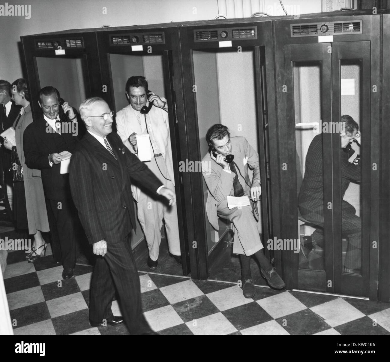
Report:
[[15,128],[16,151],[18,152],[20,163],[23,166],[28,233],[35,234],[37,230],[44,232],[49,231],[49,222],[46,212],[41,170],[30,169],[25,163],[23,134],[31,123],[32,112],[31,106],[28,105],[24,108],[24,112],[18,121],[18,125],[16,126],[15,120],[12,126]]

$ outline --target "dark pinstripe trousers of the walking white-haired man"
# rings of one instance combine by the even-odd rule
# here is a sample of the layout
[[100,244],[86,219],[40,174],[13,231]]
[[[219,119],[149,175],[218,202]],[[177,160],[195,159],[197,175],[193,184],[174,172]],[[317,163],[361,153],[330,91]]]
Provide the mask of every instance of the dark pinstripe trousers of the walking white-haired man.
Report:
[[129,238],[107,244],[106,255],[96,256],[89,304],[89,319],[92,322],[112,319],[111,304],[115,288],[130,333],[138,335],[150,331],[142,313],[140,280]]

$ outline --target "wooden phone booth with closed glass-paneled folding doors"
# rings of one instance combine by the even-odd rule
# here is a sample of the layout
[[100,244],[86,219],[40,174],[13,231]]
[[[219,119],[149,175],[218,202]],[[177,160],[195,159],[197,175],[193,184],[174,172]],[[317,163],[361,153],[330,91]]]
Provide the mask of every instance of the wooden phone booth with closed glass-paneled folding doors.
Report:
[[376,16],[275,21],[281,239],[299,245],[283,252],[290,287],[376,298],[378,32]]

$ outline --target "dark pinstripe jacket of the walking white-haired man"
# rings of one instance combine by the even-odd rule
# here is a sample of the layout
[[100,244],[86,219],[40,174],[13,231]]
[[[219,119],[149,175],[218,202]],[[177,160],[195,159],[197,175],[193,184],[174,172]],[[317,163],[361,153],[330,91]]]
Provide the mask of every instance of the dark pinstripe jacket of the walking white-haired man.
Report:
[[89,243],[107,244],[123,240],[135,226],[131,181],[151,192],[162,185],[112,132],[107,136],[115,160],[99,141],[85,133],[71,158],[69,180],[74,204]]

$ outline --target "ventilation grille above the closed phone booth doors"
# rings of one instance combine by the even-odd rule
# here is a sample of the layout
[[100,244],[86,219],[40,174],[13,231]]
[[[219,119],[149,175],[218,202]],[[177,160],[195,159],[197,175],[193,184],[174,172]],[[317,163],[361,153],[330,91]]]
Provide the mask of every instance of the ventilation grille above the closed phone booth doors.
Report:
[[[326,25],[328,30],[321,31],[321,27]],[[362,34],[362,20],[336,22],[330,21],[325,23],[305,23],[291,24],[291,37],[304,36],[322,36],[322,35],[346,35]]]

